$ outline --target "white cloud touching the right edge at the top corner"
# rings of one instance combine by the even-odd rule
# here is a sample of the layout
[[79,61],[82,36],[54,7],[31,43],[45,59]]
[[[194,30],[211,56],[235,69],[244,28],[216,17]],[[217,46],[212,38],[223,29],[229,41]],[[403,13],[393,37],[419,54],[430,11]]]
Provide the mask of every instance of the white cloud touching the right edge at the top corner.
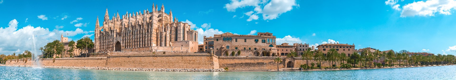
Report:
[[451,15],[451,9],[456,9],[455,0],[417,1],[404,5],[400,16],[434,16],[435,13]]

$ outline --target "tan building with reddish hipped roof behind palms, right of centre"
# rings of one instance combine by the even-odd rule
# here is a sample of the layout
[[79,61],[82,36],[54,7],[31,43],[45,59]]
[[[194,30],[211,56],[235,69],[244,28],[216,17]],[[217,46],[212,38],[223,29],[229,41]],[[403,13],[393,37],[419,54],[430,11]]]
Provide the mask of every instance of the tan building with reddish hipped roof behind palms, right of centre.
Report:
[[329,49],[336,49],[338,53],[345,53],[345,55],[349,56],[350,54],[353,54],[353,51],[355,51],[355,44],[353,45],[348,45],[348,44],[339,44],[339,43],[330,43],[330,44],[321,44],[316,46],[319,51],[323,53],[327,53]]

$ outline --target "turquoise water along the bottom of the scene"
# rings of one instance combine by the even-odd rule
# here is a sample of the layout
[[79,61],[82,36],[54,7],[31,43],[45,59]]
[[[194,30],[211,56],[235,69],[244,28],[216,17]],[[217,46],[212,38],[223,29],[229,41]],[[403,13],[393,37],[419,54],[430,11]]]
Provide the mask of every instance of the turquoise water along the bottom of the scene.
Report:
[[456,65],[294,72],[155,72],[0,66],[0,80],[456,80]]

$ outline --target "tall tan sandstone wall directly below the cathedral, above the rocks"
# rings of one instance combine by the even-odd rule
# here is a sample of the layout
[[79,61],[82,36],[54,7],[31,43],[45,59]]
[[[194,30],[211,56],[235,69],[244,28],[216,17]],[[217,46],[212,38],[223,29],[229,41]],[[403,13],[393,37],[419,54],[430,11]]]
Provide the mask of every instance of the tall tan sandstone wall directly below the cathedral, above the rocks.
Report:
[[[217,62],[215,62],[217,63]],[[109,55],[105,67],[218,69],[214,57],[207,54]]]

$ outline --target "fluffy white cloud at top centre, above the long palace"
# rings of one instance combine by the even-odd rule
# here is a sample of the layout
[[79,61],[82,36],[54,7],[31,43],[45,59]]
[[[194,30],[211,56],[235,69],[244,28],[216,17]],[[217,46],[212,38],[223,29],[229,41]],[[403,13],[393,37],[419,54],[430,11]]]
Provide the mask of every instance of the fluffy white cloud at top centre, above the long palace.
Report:
[[224,8],[234,12],[238,8],[253,7],[253,11],[244,13],[249,16],[247,21],[252,21],[258,20],[258,15],[263,15],[263,20],[277,19],[281,14],[292,10],[297,5],[296,0],[231,0],[230,3],[225,4]]

